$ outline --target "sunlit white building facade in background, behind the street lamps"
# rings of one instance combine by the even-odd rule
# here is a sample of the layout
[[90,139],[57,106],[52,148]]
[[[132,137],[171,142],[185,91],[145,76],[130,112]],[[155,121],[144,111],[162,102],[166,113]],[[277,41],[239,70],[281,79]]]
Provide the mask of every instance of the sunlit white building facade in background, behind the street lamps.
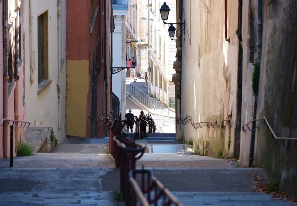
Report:
[[[176,71],[173,64],[176,61],[176,43],[168,36],[168,24],[161,20],[159,9],[163,1],[152,0],[149,4],[149,61],[150,79],[149,93],[155,96],[166,105],[171,106],[170,102],[175,101],[175,84],[173,74]],[[170,12],[168,22],[176,21],[176,1],[168,1]],[[175,105],[172,106],[175,109]]]

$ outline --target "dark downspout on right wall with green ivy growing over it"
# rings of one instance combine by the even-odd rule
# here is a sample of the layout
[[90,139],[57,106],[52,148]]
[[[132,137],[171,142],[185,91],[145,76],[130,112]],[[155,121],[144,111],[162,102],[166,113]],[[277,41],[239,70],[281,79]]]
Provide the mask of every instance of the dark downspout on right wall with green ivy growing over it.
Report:
[[[262,50],[262,1],[258,0],[258,15],[257,15],[257,64],[261,70],[261,50]],[[258,88],[259,90],[259,88]],[[257,92],[258,93],[258,92]],[[258,94],[255,95],[253,119],[257,118]],[[255,151],[255,136],[256,136],[256,122],[252,124],[251,147],[249,151],[249,166],[253,165],[254,151]]]

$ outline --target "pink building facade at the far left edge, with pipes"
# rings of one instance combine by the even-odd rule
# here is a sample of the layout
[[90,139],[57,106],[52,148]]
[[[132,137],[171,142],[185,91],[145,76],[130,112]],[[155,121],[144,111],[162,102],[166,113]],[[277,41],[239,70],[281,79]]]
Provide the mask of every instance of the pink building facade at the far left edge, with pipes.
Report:
[[[24,31],[23,3],[18,0],[0,1],[0,159],[10,156],[10,125],[5,120],[25,121],[24,97]],[[13,128],[13,155],[19,140],[25,140],[25,128]]]

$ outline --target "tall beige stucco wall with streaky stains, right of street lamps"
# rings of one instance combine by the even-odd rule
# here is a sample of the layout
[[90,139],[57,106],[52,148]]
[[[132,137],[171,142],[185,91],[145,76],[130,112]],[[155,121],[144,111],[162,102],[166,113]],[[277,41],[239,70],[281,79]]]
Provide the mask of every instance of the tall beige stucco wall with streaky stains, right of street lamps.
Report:
[[[217,121],[220,127],[208,128],[202,124],[203,128],[195,129],[190,123],[179,124],[176,136],[186,141],[193,140],[194,150],[198,153],[233,155],[237,109],[238,1],[228,1],[227,6],[227,36],[230,42],[225,41],[223,0],[211,2],[211,7],[209,2],[184,1],[183,7],[183,20],[187,26],[183,31],[181,115],[178,114],[178,117],[184,119],[189,116],[192,123]],[[222,119],[228,118],[231,127],[227,124],[222,128]]]

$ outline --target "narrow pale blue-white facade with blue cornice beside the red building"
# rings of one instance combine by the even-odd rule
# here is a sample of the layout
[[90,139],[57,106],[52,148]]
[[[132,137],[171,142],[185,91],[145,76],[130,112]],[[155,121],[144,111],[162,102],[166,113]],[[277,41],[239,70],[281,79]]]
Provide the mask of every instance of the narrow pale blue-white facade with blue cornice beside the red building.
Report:
[[[126,67],[125,41],[126,16],[128,13],[128,0],[113,1],[113,18],[115,29],[113,31],[113,67]],[[119,98],[119,113],[121,119],[125,118],[126,111],[126,71],[122,70],[112,75],[112,91]],[[113,111],[115,112],[115,111]]]

